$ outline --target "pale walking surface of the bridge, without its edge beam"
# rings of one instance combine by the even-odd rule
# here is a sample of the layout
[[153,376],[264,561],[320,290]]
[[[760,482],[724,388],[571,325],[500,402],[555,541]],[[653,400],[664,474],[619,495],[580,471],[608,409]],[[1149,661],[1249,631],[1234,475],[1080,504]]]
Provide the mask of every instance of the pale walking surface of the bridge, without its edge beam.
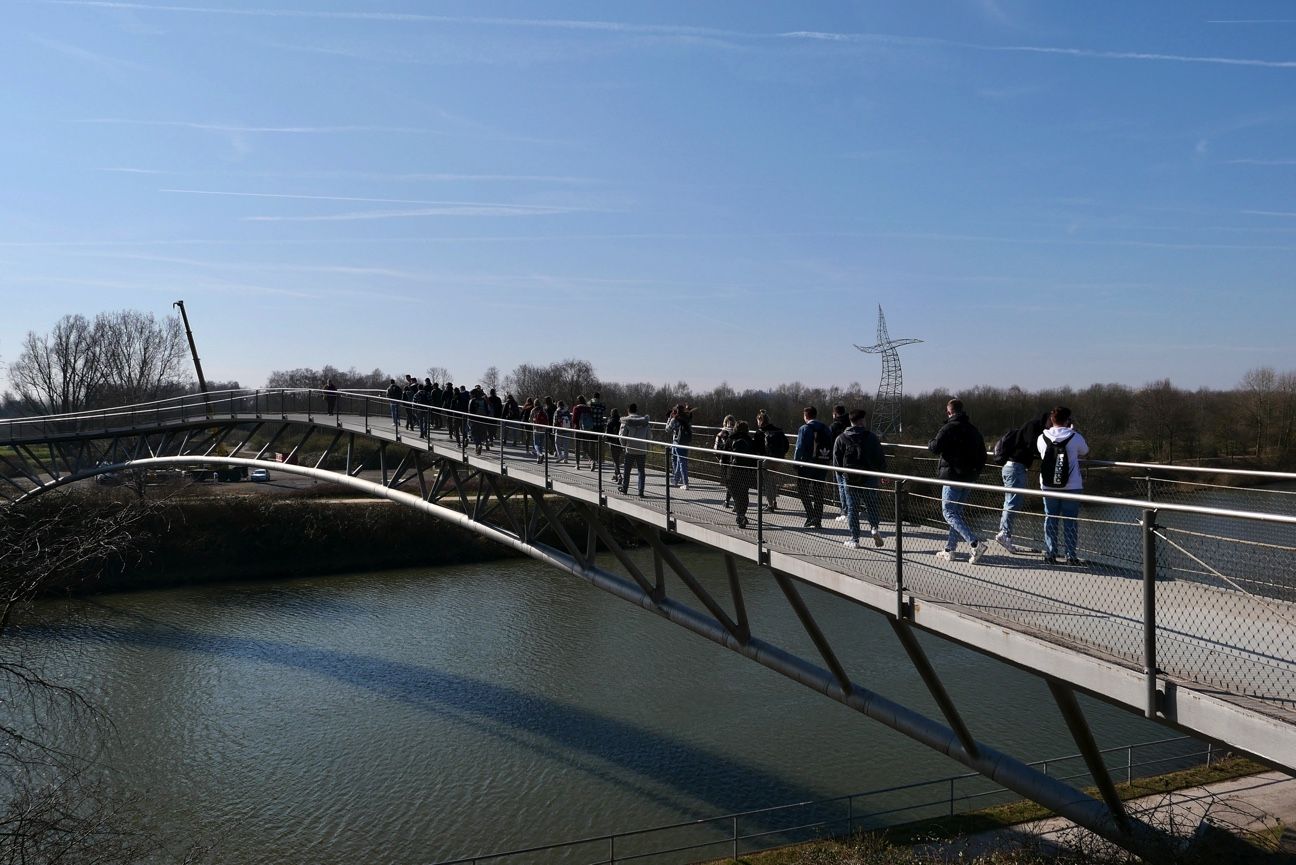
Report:
[[[358,432],[364,428],[363,421],[346,416],[341,425]],[[390,424],[372,424],[371,434],[395,440],[397,432]],[[406,444],[442,455],[463,453],[445,432],[433,431],[428,442],[407,438],[408,433],[403,429],[400,434]],[[511,477],[544,485],[546,466],[538,464],[517,446],[505,446],[503,454]],[[469,449],[468,462],[498,471],[498,446],[482,456],[476,456]],[[599,501],[601,481],[608,507],[639,516],[647,516],[643,512],[648,511],[665,525],[667,489],[660,467],[656,471],[649,468],[645,495],[639,498],[636,479],[630,493],[622,494],[613,482],[610,462],[603,466],[600,477],[591,471],[588,460],[578,463],[573,455],[568,463],[555,463],[551,458],[548,479],[555,492],[591,502]],[[696,468],[704,469],[701,464]],[[714,468],[710,467],[712,471]],[[761,515],[763,543],[771,552],[784,554],[779,556],[780,569],[820,585],[824,584],[815,575],[823,571],[846,575],[894,593],[896,525],[888,521],[894,515],[888,494],[880,495],[885,546],[872,546],[864,523],[862,547],[857,550],[842,545],[849,530],[844,521],[833,519],[839,514],[835,486],[826,490],[823,528],[805,528],[796,479],[781,480],[778,510]],[[758,502],[754,489],[746,529],[739,529],[734,512],[724,508],[724,488],[702,471],[692,473],[689,489],[671,486],[669,495],[670,515],[682,534],[696,537],[701,533],[715,545],[757,558]],[[1117,555],[1103,560],[1095,558],[1086,565],[1046,565],[1038,549],[1010,554],[989,541],[994,533],[989,527],[982,533],[982,542],[990,546],[977,564],[967,560],[967,545],[959,547],[960,560],[942,562],[934,555],[945,547],[947,537],[947,528],[938,515],[938,486],[933,486],[914,497],[918,506],[910,508],[910,520],[915,521],[906,520],[902,543],[906,593],[982,620],[1002,622],[1078,652],[1116,660],[1130,669],[1140,667],[1143,581],[1135,564],[1121,562],[1117,551]],[[1083,528],[1095,533],[1105,529],[1108,536],[1113,530],[1135,533],[1139,514],[1135,508],[1140,506],[1131,503],[1129,514],[1107,520],[1104,525]],[[973,524],[998,519],[998,503],[982,510],[984,514],[971,520]],[[728,543],[712,536],[727,538]],[[797,563],[807,567],[798,568]],[[1185,682],[1195,682],[1196,690],[1213,693],[1286,724],[1296,724],[1296,604],[1222,587],[1217,581],[1187,578],[1159,581],[1156,595],[1161,669]],[[1227,615],[1221,615],[1223,611]]]

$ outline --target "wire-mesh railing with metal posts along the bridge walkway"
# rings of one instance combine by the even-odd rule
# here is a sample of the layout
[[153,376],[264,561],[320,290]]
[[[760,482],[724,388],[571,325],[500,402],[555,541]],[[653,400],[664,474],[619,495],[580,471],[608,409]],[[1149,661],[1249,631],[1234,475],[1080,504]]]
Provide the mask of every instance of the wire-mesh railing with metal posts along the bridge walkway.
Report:
[[[1021,489],[1010,549],[995,539],[1006,493],[995,467],[982,472],[981,484],[949,484],[933,477],[936,462],[924,451],[892,447],[886,473],[837,472],[673,445],[661,440],[660,431],[651,440],[629,440],[369,393],[222,392],[0,421],[0,449],[10,446],[6,466],[23,467],[39,462],[40,447],[60,438],[144,434],[229,420],[336,427],[457,454],[482,467],[498,464],[522,482],[552,486],[560,494],[634,502],[689,527],[695,537],[706,538],[699,530],[728,536],[748,543],[752,558],[784,554],[1077,651],[1152,665],[1274,707],[1296,700],[1296,486],[1291,482],[1255,488],[1218,472],[1144,473],[1137,498],[1054,495],[1048,510],[1058,514],[1051,516],[1038,489]],[[279,442],[286,441],[268,425],[255,434],[245,453],[272,458],[281,453]],[[695,428],[695,441],[709,444],[710,436]],[[64,469],[25,471],[36,477]],[[1245,480],[1284,477],[1296,481],[1265,473]],[[846,519],[848,510],[855,511],[858,528]],[[1148,517],[1151,527],[1144,525]],[[1152,562],[1144,560],[1146,541]],[[726,542],[726,549],[744,547]],[[1155,658],[1147,656],[1144,641],[1148,581],[1153,581]]]

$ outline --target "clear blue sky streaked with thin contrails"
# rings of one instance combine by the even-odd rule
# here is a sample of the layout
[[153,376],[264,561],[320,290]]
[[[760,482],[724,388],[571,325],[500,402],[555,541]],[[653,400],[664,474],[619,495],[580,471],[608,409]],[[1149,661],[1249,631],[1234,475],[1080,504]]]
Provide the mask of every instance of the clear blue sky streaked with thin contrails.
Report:
[[213,379],[1296,368],[1287,3],[3,0],[0,361],[183,298]]

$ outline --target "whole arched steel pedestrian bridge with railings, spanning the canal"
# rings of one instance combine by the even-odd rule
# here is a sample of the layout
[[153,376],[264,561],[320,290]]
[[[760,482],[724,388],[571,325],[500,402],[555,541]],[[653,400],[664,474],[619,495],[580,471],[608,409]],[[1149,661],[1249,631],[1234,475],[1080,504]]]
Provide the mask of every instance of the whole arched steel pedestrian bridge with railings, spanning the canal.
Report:
[[[332,410],[332,411],[330,411]],[[883,545],[867,527],[844,546],[836,485],[826,482],[823,528],[806,528],[794,463],[759,459],[748,524],[726,508],[721,466],[691,456],[687,489],[667,482],[667,451],[648,445],[647,484],[622,493],[616,437],[572,433],[570,456],[527,451],[529,424],[434,411],[368,394],[238,390],[122,409],[0,421],[0,497],[6,507],[95,476],[162,468],[271,467],[380,495],[457,523],[704,635],[1036,799],[1128,847],[1148,836],[1128,816],[1089,733],[1076,693],[1296,772],[1296,476],[1124,463],[1086,463],[1090,481],[1133,490],[1077,495],[1081,565],[1046,565],[1038,490],[1016,554],[994,547],[972,564],[943,562],[941,482],[921,449],[888,447],[880,484]],[[415,428],[407,425],[413,416]],[[393,419],[395,418],[395,420]],[[477,424],[494,440],[478,454],[450,431]],[[559,433],[560,436],[564,433]],[[861,473],[863,475],[863,473]],[[990,467],[967,516],[989,542],[1003,490]],[[776,510],[756,489],[780,488]],[[627,532],[652,551],[645,573]],[[684,538],[717,555],[728,597],[709,593],[671,552]],[[748,615],[739,559],[763,565],[814,647],[804,658],[762,638]],[[837,659],[801,589],[811,585],[881,613],[931,690],[942,718],[867,689]],[[976,738],[941,683],[921,630],[1042,677],[1086,755],[1100,799],[1041,774]],[[1029,718],[1021,718],[1029,724]]]

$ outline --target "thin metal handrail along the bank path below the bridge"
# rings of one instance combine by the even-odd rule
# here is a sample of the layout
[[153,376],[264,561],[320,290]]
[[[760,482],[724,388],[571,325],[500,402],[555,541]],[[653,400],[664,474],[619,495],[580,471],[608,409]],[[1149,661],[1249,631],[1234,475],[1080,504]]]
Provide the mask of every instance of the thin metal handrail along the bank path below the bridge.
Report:
[[[1148,766],[1148,765],[1156,765],[1156,764],[1160,764],[1160,763],[1169,763],[1172,760],[1186,760],[1186,759],[1190,759],[1190,757],[1201,756],[1204,759],[1204,761],[1207,763],[1207,765],[1209,765],[1209,763],[1212,760],[1212,756],[1213,756],[1213,744],[1210,744],[1209,742],[1207,743],[1207,747],[1205,747],[1204,751],[1190,751],[1187,753],[1173,756],[1173,757],[1156,757],[1156,759],[1151,759],[1151,760],[1142,760],[1142,761],[1138,761],[1138,763],[1134,761],[1134,751],[1135,750],[1151,748],[1151,747],[1157,747],[1157,746],[1164,746],[1164,744],[1173,744],[1173,743],[1177,743],[1177,742],[1192,742],[1192,741],[1194,739],[1191,737],[1173,737],[1173,738],[1168,738],[1168,739],[1155,739],[1152,742],[1137,742],[1137,743],[1131,743],[1131,744],[1126,744],[1126,746],[1117,746],[1117,747],[1111,747],[1111,748],[1102,748],[1099,751],[1099,753],[1102,753],[1102,755],[1105,756],[1105,755],[1111,755],[1111,753],[1121,753],[1121,752],[1124,752],[1126,755],[1126,760],[1125,760],[1124,768],[1129,773],[1128,777],[1126,777],[1126,782],[1129,782],[1129,781],[1133,781],[1133,770],[1135,768],[1143,768],[1143,766]],[[1061,757],[1050,757],[1047,760],[1036,760],[1034,763],[1030,763],[1029,765],[1034,766],[1034,768],[1043,766],[1045,770],[1047,772],[1047,766],[1048,766],[1050,763],[1067,763],[1067,761],[1074,761],[1074,760],[1081,760],[1081,759],[1083,759],[1083,755],[1081,755],[1081,753],[1070,753],[1070,755],[1061,756]],[[1072,774],[1072,776],[1065,776],[1064,779],[1083,778],[1087,774],[1089,773],[1077,773],[1077,774]],[[688,821],[680,821],[680,822],[673,822],[673,824],[662,824],[662,825],[658,825],[658,826],[649,826],[649,827],[645,827],[645,829],[632,829],[632,830],[627,830],[627,831],[622,831],[622,833],[609,833],[609,834],[604,834],[604,835],[590,835],[590,836],[586,836],[586,838],[578,838],[578,839],[566,840],[566,842],[556,842],[556,843],[552,843],[552,844],[539,844],[539,846],[522,847],[522,848],[517,848],[517,849],[508,849],[508,851],[500,851],[500,852],[494,852],[494,853],[478,853],[476,856],[463,856],[463,857],[459,857],[459,859],[438,860],[435,862],[435,865],[476,865],[477,862],[483,862],[483,861],[496,860],[496,859],[505,859],[505,857],[511,857],[511,856],[524,856],[524,855],[527,855],[527,853],[539,853],[539,852],[548,852],[548,851],[556,851],[556,849],[564,849],[564,848],[573,848],[573,847],[582,847],[582,846],[594,846],[594,844],[605,844],[608,847],[608,851],[609,851],[609,856],[607,859],[597,860],[597,862],[605,864],[605,865],[613,865],[614,862],[629,862],[629,861],[634,861],[636,859],[645,859],[645,857],[649,857],[649,856],[665,856],[667,853],[677,853],[677,852],[683,852],[683,851],[688,851],[688,849],[700,849],[702,847],[715,847],[715,846],[719,846],[719,844],[731,846],[735,849],[735,852],[736,852],[736,844],[739,842],[752,840],[752,839],[757,839],[757,838],[765,838],[765,836],[769,836],[769,835],[785,835],[785,834],[796,833],[796,831],[805,831],[805,830],[811,830],[811,829],[831,827],[833,825],[840,825],[840,824],[846,824],[846,833],[845,834],[850,834],[850,833],[854,831],[854,826],[857,824],[864,824],[866,821],[872,821],[872,820],[876,820],[879,817],[888,817],[888,816],[892,816],[892,814],[898,814],[898,813],[905,813],[905,812],[914,812],[914,811],[920,811],[920,809],[924,809],[924,808],[933,808],[933,807],[937,807],[937,805],[945,805],[945,807],[947,807],[947,813],[949,814],[955,814],[955,813],[958,813],[956,807],[960,805],[960,804],[971,803],[971,801],[975,801],[977,799],[984,799],[984,798],[988,798],[988,796],[995,796],[995,795],[1001,795],[1001,794],[1004,794],[1004,792],[1011,792],[1007,787],[997,786],[997,787],[994,787],[991,790],[978,790],[978,791],[973,791],[973,792],[966,792],[966,794],[962,794],[962,795],[954,795],[955,785],[958,785],[958,782],[967,781],[967,779],[971,779],[971,778],[982,778],[982,777],[984,776],[981,776],[981,774],[978,774],[976,772],[960,773],[960,774],[945,776],[945,777],[941,777],[941,778],[932,778],[932,779],[928,779],[928,781],[915,781],[915,782],[911,782],[911,783],[893,785],[893,786],[889,786],[889,787],[877,787],[875,790],[866,790],[866,791],[862,791],[862,792],[853,792],[853,794],[848,794],[848,795],[844,795],[844,796],[832,796],[829,799],[814,799],[814,800],[805,800],[805,801],[794,801],[794,803],[787,803],[787,804],[783,804],[783,805],[770,805],[770,807],[766,807],[766,808],[753,808],[753,809],[749,809],[749,811],[732,812],[732,813],[727,813],[727,814],[717,814],[714,817],[701,817],[701,818],[697,818],[697,820],[688,820]],[[885,794],[897,794],[897,792],[903,792],[903,791],[907,791],[907,790],[920,790],[920,788],[924,788],[924,787],[934,787],[934,786],[945,786],[945,787],[947,787],[950,790],[950,795],[949,796],[942,796],[942,798],[938,798],[938,799],[929,799],[929,800],[924,800],[924,801],[911,803],[911,804],[901,805],[901,807],[897,807],[897,808],[884,808],[884,809],[870,811],[870,812],[863,812],[863,813],[855,813],[855,811],[854,811],[854,801],[857,799],[866,799],[866,798],[874,798],[874,796],[880,796],[880,795],[885,795]],[[739,834],[737,833],[737,821],[740,821],[740,820],[750,820],[750,818],[754,818],[754,817],[763,817],[763,816],[769,816],[769,814],[774,814],[774,813],[779,813],[779,812],[787,812],[787,811],[792,811],[792,809],[797,809],[797,808],[820,808],[820,807],[824,807],[824,805],[833,805],[833,804],[839,804],[839,803],[846,803],[848,804],[848,807],[849,807],[849,816],[846,816],[846,817],[836,817],[836,818],[832,818],[832,820],[820,820],[820,821],[814,821],[814,822],[807,822],[807,824],[797,824],[797,825],[793,825],[793,826],[781,826],[779,829],[763,829],[761,831],[753,831],[753,833],[746,833],[746,834]],[[730,826],[734,827],[734,831],[727,838],[717,838],[715,840],[700,842],[700,843],[693,843],[693,844],[684,844],[684,846],[679,846],[679,847],[667,847],[667,848],[652,849],[652,851],[648,851],[648,852],[636,852],[636,853],[626,855],[626,856],[617,856],[616,855],[616,846],[617,846],[618,840],[627,840],[627,839],[631,839],[631,838],[642,838],[642,836],[645,836],[645,835],[667,833],[667,831],[679,830],[679,829],[696,829],[696,827],[706,826],[706,825],[710,825],[710,824],[722,824],[722,822],[726,822],[726,824],[728,824]]]

